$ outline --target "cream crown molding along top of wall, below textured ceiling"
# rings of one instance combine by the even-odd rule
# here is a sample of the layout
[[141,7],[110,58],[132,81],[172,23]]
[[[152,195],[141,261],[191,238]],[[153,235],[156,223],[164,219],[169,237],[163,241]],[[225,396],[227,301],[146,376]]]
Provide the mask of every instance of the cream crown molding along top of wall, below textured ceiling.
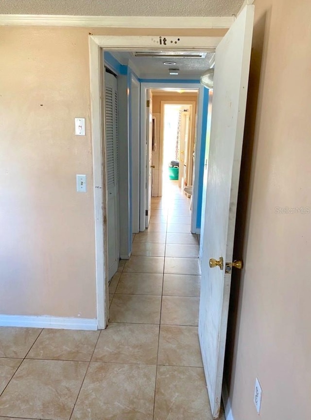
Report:
[[0,15],[0,26],[81,26],[90,28],[228,29],[234,17],[150,17]]

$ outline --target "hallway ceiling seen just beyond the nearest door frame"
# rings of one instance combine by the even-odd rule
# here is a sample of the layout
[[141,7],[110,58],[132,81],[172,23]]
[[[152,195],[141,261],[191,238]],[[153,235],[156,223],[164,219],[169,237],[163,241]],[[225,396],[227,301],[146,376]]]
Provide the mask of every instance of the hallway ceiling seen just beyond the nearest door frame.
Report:
[[[135,57],[130,52],[111,52],[124,65],[130,66],[138,77],[165,79],[199,79],[210,68],[215,53],[208,52],[205,58],[176,58],[176,57]],[[175,65],[164,65],[165,61],[174,61]],[[179,69],[178,76],[171,76],[169,69]]]

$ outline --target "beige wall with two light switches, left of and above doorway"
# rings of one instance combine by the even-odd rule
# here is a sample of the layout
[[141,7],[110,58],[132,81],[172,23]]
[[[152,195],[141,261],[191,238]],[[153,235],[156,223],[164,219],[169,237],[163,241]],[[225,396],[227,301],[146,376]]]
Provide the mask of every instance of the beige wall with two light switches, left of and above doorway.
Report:
[[[89,33],[161,35],[0,27],[0,314],[96,317]],[[79,173],[87,193],[75,190]]]

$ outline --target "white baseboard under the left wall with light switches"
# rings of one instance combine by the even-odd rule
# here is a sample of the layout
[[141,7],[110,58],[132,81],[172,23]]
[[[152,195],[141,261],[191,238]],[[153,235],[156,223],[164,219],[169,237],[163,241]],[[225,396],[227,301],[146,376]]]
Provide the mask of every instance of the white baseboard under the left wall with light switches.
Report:
[[97,319],[60,316],[1,315],[1,327],[58,328],[65,330],[97,330]]

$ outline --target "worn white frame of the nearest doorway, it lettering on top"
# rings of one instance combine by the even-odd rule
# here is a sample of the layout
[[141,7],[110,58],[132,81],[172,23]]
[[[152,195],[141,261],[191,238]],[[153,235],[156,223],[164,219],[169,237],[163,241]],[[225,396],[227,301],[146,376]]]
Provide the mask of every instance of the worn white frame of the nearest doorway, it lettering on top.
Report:
[[[131,19],[131,18],[129,18]],[[182,18],[181,18],[182,20]],[[180,25],[182,27],[182,24]],[[165,35],[165,34],[164,34]],[[167,36],[167,45],[160,46],[159,36],[126,36],[126,35],[89,35],[90,89],[91,89],[91,129],[93,149],[93,181],[95,211],[95,263],[96,263],[96,299],[97,327],[106,328],[108,324],[108,275],[107,275],[107,229],[106,229],[106,168],[104,138],[104,72],[102,69],[102,50],[214,50],[222,37],[219,36]],[[162,38],[163,39],[163,38]],[[172,41],[172,43],[171,43]],[[175,44],[176,42],[176,44]],[[142,84],[143,85],[143,84]],[[158,84],[155,84],[158,85]],[[191,84],[186,84],[191,88]],[[178,85],[179,87],[180,85]],[[155,86],[156,87],[156,86]],[[174,85],[176,87],[176,84]],[[181,86],[180,86],[181,87]],[[195,88],[198,85],[195,84]],[[203,88],[200,88],[203,89]],[[145,91],[146,89],[142,89]],[[202,93],[201,93],[202,92]],[[199,93],[199,104],[203,101],[203,90]],[[143,102],[142,102],[143,103]],[[201,110],[200,110],[201,108]],[[200,118],[199,118],[200,116]],[[199,106],[198,121],[202,121],[202,105]],[[198,124],[200,129],[202,123]],[[201,140],[201,133],[197,134]],[[200,145],[198,145],[200,146]],[[198,155],[198,154],[197,154]],[[195,162],[196,170],[199,170]],[[104,168],[104,170],[103,170]],[[144,167],[145,171],[145,167]],[[197,176],[195,176],[197,178]],[[194,179],[195,182],[195,179]],[[195,187],[194,187],[195,188]],[[197,208],[193,206],[193,214]],[[191,228],[193,226],[191,225]]]

